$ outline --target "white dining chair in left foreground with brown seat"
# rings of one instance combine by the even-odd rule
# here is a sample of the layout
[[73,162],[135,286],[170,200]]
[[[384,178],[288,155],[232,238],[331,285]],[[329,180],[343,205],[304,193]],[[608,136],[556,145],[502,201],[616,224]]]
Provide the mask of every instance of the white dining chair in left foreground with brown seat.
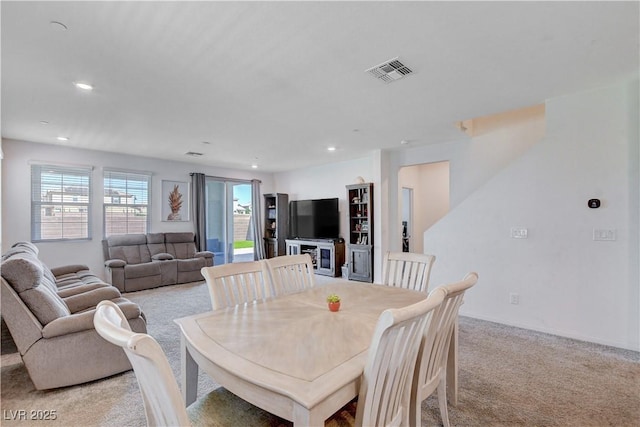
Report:
[[185,408],[166,355],[150,335],[132,332],[112,301],[98,304],[96,331],[124,349],[138,380],[148,426],[243,425],[285,426],[285,420],[219,387]]

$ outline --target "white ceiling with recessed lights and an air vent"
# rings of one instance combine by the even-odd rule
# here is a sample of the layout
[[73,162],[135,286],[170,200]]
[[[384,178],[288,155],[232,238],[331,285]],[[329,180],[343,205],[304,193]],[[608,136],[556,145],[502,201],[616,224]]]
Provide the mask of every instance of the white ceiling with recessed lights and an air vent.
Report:
[[[637,1],[0,7],[3,138],[238,169],[460,139],[459,120],[639,70]],[[364,72],[396,56],[412,75]]]

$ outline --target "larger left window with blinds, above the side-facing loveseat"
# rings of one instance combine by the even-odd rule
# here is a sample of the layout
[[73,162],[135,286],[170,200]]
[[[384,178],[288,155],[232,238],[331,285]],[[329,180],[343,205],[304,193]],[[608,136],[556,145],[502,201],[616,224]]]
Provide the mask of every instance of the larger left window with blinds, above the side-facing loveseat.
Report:
[[31,166],[31,240],[91,238],[91,168]]

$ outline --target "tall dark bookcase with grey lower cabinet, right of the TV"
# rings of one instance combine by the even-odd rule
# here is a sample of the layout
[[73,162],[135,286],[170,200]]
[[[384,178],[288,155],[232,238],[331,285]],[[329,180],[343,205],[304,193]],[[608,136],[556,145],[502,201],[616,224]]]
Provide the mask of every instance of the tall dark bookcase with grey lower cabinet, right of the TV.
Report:
[[347,185],[349,280],[373,282],[373,184]]

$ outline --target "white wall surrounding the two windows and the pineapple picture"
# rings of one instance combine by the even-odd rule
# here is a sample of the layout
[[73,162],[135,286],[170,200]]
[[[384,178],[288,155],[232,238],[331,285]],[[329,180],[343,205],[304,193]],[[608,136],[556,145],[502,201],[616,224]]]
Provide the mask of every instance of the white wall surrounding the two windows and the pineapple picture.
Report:
[[93,166],[94,205],[91,212],[92,239],[77,242],[40,242],[40,258],[50,267],[65,264],[86,264],[104,278],[102,255],[103,222],[100,194],[103,193],[103,168],[145,171],[153,174],[150,232],[193,231],[193,221],[163,222],[161,218],[162,180],[191,182],[190,172],[236,179],[262,180],[262,192],[274,191],[271,174],[194,165],[186,162],[163,161],[135,156],[80,150],[25,141],[3,140],[2,150],[2,252],[17,241],[31,240],[31,168],[30,162]]

